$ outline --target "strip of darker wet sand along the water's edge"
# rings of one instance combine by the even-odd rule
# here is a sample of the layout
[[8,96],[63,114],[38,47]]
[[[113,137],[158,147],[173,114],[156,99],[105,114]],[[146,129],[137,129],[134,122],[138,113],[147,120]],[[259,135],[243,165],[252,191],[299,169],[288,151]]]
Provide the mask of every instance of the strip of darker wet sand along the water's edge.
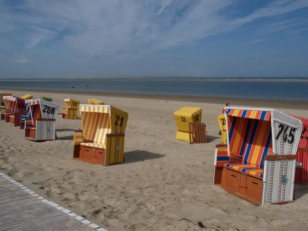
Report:
[[227,98],[227,97],[202,97],[194,95],[169,95],[169,94],[145,94],[145,93],[121,93],[121,92],[101,92],[101,91],[72,91],[72,90],[49,90],[49,89],[25,89],[25,88],[6,88],[1,91],[15,92],[42,92],[70,94],[70,95],[87,95],[101,96],[101,97],[117,97],[129,99],[146,99],[146,100],[165,100],[165,101],[182,101],[182,102],[196,102],[196,103],[210,103],[222,104],[230,103],[232,105],[242,105],[249,107],[265,107],[276,108],[275,105],[283,105],[284,108],[290,109],[305,109],[307,108],[307,101],[287,101],[287,100],[267,100],[267,99],[243,99],[243,98]]

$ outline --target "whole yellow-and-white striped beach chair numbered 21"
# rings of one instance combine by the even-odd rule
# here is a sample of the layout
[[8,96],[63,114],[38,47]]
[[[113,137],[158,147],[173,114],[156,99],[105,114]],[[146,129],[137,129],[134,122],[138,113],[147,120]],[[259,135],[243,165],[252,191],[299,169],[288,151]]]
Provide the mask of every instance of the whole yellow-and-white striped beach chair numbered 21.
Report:
[[82,130],[74,132],[73,159],[110,165],[124,161],[128,113],[109,105],[80,105]]

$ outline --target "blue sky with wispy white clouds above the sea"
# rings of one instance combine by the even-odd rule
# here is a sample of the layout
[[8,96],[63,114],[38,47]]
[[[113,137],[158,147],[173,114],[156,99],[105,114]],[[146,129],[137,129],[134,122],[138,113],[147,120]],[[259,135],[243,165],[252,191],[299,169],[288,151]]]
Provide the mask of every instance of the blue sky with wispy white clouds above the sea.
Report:
[[308,76],[308,0],[0,0],[0,79]]

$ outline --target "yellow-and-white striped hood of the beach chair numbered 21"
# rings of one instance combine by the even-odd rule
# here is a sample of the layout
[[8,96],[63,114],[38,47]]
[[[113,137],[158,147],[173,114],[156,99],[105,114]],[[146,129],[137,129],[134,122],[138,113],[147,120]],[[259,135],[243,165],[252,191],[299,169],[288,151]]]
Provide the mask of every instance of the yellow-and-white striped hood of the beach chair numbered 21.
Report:
[[[128,114],[110,105],[80,105],[84,140],[105,144],[106,134],[124,133]],[[111,123],[112,122],[112,123]]]

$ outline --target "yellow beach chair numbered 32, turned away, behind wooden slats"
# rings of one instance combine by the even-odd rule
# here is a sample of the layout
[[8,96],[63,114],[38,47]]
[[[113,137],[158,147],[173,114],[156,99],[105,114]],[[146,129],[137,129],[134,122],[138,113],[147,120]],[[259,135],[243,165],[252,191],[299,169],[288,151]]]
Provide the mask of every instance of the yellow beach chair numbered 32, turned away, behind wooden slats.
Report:
[[189,141],[189,123],[201,123],[202,108],[182,107],[174,113],[177,123],[176,139]]

